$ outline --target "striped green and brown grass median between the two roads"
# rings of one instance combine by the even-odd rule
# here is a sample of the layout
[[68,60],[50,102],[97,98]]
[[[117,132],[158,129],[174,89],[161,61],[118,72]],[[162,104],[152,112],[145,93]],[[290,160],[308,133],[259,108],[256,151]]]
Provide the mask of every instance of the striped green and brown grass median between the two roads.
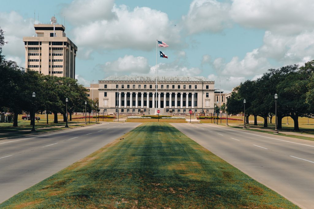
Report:
[[153,122],[15,195],[0,208],[298,207],[170,124]]

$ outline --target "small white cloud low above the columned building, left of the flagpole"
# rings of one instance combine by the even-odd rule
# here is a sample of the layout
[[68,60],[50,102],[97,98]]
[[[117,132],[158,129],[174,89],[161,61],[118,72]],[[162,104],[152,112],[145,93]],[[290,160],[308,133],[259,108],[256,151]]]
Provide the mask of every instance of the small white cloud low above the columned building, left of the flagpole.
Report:
[[125,55],[124,57],[119,57],[117,60],[112,62],[106,62],[102,65],[103,71],[106,74],[110,73],[127,73],[127,74],[141,74],[149,72],[149,65],[147,58],[145,57],[134,57],[133,55]]

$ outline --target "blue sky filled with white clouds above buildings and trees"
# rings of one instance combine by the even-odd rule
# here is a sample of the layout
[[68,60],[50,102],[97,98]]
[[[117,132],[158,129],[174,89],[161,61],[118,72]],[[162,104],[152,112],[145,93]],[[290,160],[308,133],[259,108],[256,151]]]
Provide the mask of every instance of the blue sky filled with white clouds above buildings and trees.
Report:
[[[23,36],[56,16],[78,46],[76,79],[204,76],[226,93],[271,68],[313,60],[312,0],[11,0],[0,7],[6,59],[25,67]],[[34,19],[35,13],[35,19]],[[160,58],[159,51],[168,56]]]

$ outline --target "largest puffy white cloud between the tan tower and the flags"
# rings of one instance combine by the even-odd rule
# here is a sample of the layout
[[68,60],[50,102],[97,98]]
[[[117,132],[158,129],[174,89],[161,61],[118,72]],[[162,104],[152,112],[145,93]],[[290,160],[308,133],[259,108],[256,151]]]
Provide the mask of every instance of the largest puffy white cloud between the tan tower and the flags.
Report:
[[125,5],[114,5],[111,11],[116,13],[116,18],[99,17],[76,27],[74,42],[80,47],[94,49],[151,50],[156,46],[156,39],[168,45],[180,41],[180,29],[173,26],[166,13],[148,7],[129,11]]

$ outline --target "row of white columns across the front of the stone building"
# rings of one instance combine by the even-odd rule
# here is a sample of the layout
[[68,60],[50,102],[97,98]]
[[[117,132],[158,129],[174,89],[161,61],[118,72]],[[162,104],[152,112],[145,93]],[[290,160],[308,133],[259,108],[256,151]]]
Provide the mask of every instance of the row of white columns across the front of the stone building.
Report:
[[[121,108],[121,103],[122,103],[122,99],[121,99],[121,93],[122,92],[119,92],[119,107]],[[133,107],[133,92],[129,92],[130,93],[130,107]],[[141,92],[141,108],[143,108],[144,106],[144,93],[146,92]],[[153,108],[155,108],[155,92],[152,92],[153,93]],[[183,108],[183,92],[180,92],[181,93],[181,102],[180,102],[180,108]],[[158,102],[157,102],[157,105],[158,105],[158,108],[160,108],[160,104],[161,104],[161,98],[160,98],[160,94],[161,92],[158,92]],[[174,108],[178,108],[178,92],[175,92],[175,107]],[[169,94],[169,108],[172,108],[172,93]],[[186,108],[189,108],[188,107],[188,100],[189,100],[189,93],[187,93],[187,98],[186,98]],[[124,108],[127,107],[127,92],[124,92]],[[147,93],[147,102],[149,102],[149,93]],[[164,107],[166,107],[166,93],[164,93]],[[138,92],[135,92],[135,108],[138,108]],[[194,108],[194,93],[192,93],[192,108]]]

